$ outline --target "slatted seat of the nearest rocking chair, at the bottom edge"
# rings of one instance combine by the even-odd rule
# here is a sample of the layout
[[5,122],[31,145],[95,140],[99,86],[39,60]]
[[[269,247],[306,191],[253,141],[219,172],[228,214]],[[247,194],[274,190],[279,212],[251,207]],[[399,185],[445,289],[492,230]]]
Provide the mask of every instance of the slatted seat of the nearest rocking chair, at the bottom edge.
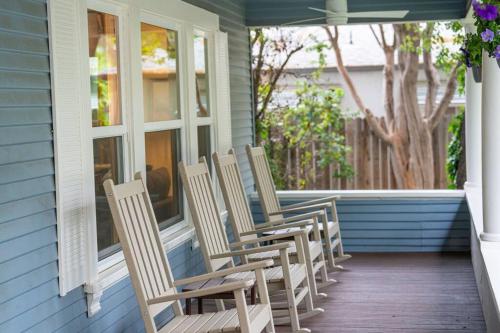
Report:
[[[248,312],[253,332],[261,332],[269,318],[269,306],[266,304],[249,305]],[[230,309],[201,315],[178,316],[159,330],[159,333],[226,333],[240,332],[238,311]]]

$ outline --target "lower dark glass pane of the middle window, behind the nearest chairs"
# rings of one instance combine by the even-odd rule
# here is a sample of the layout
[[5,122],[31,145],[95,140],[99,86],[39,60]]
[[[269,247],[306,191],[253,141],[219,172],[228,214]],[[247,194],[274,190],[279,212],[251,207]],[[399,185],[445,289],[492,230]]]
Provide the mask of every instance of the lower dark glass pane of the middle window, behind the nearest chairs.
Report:
[[146,183],[162,228],[182,219],[179,161],[180,130],[146,133]]

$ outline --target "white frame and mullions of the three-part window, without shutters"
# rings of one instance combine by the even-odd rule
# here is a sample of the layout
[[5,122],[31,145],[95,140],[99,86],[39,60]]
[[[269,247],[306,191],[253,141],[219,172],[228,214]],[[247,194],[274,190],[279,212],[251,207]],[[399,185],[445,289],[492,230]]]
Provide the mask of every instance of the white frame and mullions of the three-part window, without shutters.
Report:
[[[179,20],[168,15],[160,15],[148,9],[136,9],[127,5],[121,5],[110,0],[87,0],[88,9],[101,11],[104,13],[112,14],[118,17],[119,26],[119,47],[120,47],[120,98],[121,98],[121,111],[122,111],[122,124],[116,126],[108,127],[91,127],[90,123],[90,137],[92,140],[94,138],[109,137],[109,136],[122,136],[123,143],[123,153],[124,153],[124,180],[130,181],[133,179],[132,170],[138,170],[145,173],[145,134],[148,132],[157,132],[165,130],[179,130],[180,138],[180,158],[188,163],[194,163],[198,160],[198,138],[197,129],[198,126],[210,126],[210,146],[211,151],[215,151],[217,147],[216,142],[216,107],[215,100],[217,98],[214,93],[215,85],[215,40],[213,34],[218,31],[218,17],[210,13],[212,21],[216,24],[212,26],[203,27],[197,24],[198,15],[192,15],[192,19],[189,20],[184,18]],[[128,13],[128,15],[127,15]],[[86,14],[86,11],[85,11]],[[213,18],[216,20],[213,20]],[[142,67],[140,62],[140,24],[146,23],[155,25],[161,28],[176,30],[177,31],[177,45],[178,45],[178,57],[177,57],[177,78],[178,78],[178,89],[179,89],[179,105],[180,108],[180,118],[167,120],[167,121],[157,121],[157,122],[146,122],[144,120],[144,107],[143,107],[143,80],[142,80]],[[135,28],[136,31],[133,31]],[[88,39],[87,26],[85,26],[85,38]],[[196,103],[195,95],[195,68],[194,68],[194,47],[190,45],[189,41],[192,38],[194,31],[202,32],[207,38],[207,70],[209,73],[208,84],[210,89],[208,90],[209,99],[209,117],[197,117],[194,109],[194,103]],[[88,40],[86,41],[88,43]],[[88,48],[87,48],[88,49]],[[87,54],[88,56],[88,54]],[[139,59],[139,60],[132,60]],[[128,65],[128,68],[126,67]],[[135,82],[135,83],[134,83]],[[90,87],[89,91],[89,101],[90,101]],[[90,118],[91,119],[91,118]],[[91,141],[90,143],[92,143]],[[90,145],[91,146],[91,145]],[[92,148],[92,147],[91,147]],[[92,154],[93,158],[93,154]],[[207,160],[208,163],[212,163],[211,159]],[[89,174],[94,175],[93,163],[90,163],[89,168],[92,170],[88,171]],[[215,182],[215,181],[214,181]],[[180,184],[180,183],[179,183]],[[92,183],[92,189],[94,189],[94,184]],[[98,259],[97,255],[97,229],[96,229],[96,217],[95,217],[95,196],[94,191],[92,191],[92,196],[89,195],[89,203],[92,206],[93,215],[91,218],[91,229],[90,239],[95,241],[95,244],[91,244],[90,248],[95,248],[94,251],[90,251],[89,255],[91,258],[96,260],[95,273],[98,276],[98,281],[106,281],[105,285],[113,285],[121,278],[123,278],[123,267],[125,267],[123,251],[111,254],[108,257]],[[185,204],[186,198],[182,190],[182,218],[173,223],[172,225],[160,230],[160,238],[164,244],[180,244],[187,239],[194,240],[193,233],[193,222],[191,221],[191,216],[189,215],[189,210]],[[161,228],[162,221],[158,221]],[[118,269],[121,267],[121,269]],[[121,273],[120,273],[121,272]],[[116,276],[116,278],[114,277]]]

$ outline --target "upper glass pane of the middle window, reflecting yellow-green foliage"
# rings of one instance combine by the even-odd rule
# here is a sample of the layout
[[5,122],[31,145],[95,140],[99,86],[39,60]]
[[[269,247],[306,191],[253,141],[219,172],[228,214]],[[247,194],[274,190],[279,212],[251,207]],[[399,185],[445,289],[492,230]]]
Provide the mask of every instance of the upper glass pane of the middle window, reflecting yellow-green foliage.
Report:
[[144,121],[179,119],[177,32],[141,23]]

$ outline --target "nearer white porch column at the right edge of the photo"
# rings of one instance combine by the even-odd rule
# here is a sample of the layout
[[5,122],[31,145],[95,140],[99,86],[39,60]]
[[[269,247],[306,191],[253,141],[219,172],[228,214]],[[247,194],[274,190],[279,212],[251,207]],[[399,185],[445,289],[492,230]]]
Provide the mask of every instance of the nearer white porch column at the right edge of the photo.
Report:
[[500,68],[483,55],[482,173],[484,241],[500,242]]

